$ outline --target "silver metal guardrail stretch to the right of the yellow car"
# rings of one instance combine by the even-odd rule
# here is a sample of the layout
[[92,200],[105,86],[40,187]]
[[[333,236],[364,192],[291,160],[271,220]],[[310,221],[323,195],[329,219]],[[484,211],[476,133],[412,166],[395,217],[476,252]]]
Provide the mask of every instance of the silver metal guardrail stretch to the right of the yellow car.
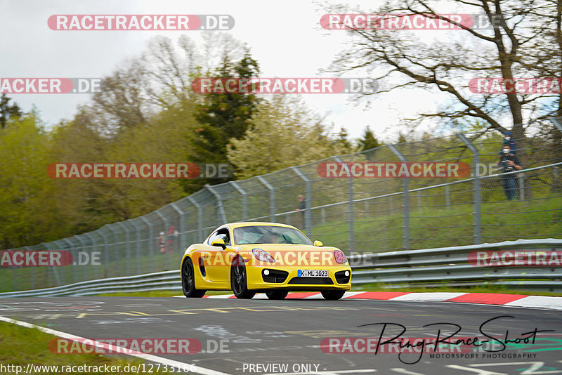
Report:
[[[521,290],[562,290],[562,265],[481,266],[469,263],[471,251],[557,251],[562,239],[518,239],[495,244],[439,249],[391,251],[350,257],[355,265],[353,284],[379,284],[383,288],[468,287],[502,285]],[[370,258],[370,264],[365,264]]]

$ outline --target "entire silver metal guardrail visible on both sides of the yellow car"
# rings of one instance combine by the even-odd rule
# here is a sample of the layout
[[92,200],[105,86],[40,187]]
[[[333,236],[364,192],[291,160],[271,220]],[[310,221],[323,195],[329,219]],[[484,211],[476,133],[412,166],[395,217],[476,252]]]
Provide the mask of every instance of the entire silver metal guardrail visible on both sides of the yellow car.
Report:
[[[352,284],[376,283],[381,288],[470,287],[502,285],[521,290],[562,290],[562,265],[475,267],[469,263],[471,251],[557,251],[562,239],[518,239],[495,244],[443,247],[349,256]],[[37,296],[91,296],[95,294],[181,290],[179,270],[145,275],[112,277],[61,287],[0,293],[0,298]]]

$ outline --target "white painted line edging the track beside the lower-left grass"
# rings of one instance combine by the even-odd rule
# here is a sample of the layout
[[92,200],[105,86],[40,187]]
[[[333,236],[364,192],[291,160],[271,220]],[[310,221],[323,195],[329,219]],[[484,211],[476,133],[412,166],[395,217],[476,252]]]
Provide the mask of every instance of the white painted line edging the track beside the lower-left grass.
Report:
[[[18,326],[21,326],[21,327],[39,329],[39,331],[45,332],[46,334],[51,334],[51,335],[54,335],[54,336],[67,338],[68,340],[72,340],[72,341],[84,342],[84,340],[90,340],[89,338],[80,337],[80,336],[76,336],[76,335],[73,335],[73,334],[67,334],[66,332],[55,331],[54,329],[36,326],[35,324],[31,324],[31,323],[27,323],[27,322],[21,322],[20,320],[13,320],[13,319],[10,319],[9,317],[3,317],[1,315],[0,315],[0,321],[12,323],[12,324],[17,324]],[[120,348],[119,346],[110,345],[110,344],[107,344],[107,343],[103,343],[101,341],[95,341],[95,340],[92,340],[92,341],[93,341],[92,342],[93,345],[95,345],[97,348],[105,348],[105,349],[110,350],[113,353],[122,353],[122,351],[123,351],[123,348]],[[148,360],[150,362],[167,364],[169,366],[175,367],[176,369],[177,368],[183,369],[185,366],[188,366],[187,368],[189,368],[189,366],[190,366],[189,363],[169,360],[168,358],[158,357],[157,355],[152,355],[152,354],[141,353],[141,352],[137,352],[135,350],[130,350],[130,351],[132,353],[124,353],[124,354],[131,355],[133,357],[138,357],[138,358],[141,358],[143,360]],[[226,374],[225,372],[206,369],[206,368],[198,366],[198,365],[197,365],[197,369],[195,369],[195,374],[230,375],[230,374]]]

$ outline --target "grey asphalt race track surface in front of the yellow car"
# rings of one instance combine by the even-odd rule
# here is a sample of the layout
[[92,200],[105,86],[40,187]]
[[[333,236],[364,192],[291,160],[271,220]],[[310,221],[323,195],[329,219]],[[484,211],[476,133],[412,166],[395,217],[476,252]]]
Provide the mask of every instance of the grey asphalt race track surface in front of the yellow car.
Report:
[[[554,310],[353,299],[63,297],[2,299],[0,315],[85,338],[196,338],[199,353],[155,355],[224,374],[562,374],[562,312]],[[401,324],[406,331],[400,338],[426,338],[426,353],[410,348],[399,357],[397,344],[380,345],[377,354],[325,353],[349,352],[353,345],[365,350],[357,338],[379,338],[383,328],[386,338],[402,331],[377,323]],[[458,324],[455,338],[476,336],[482,346],[455,346],[432,358],[429,341],[439,329],[440,338],[456,331],[452,325],[423,327],[433,323]],[[551,331],[538,332],[532,343],[535,329]],[[513,342],[503,347],[506,335]],[[329,338],[340,338],[343,346],[329,346]],[[218,353],[220,343],[224,353]]]

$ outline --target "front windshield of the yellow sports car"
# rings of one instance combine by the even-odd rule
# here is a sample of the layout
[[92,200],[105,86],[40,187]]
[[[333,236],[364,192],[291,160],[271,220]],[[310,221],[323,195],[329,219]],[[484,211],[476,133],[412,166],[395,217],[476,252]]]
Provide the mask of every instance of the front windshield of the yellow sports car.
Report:
[[235,244],[299,244],[311,245],[312,242],[299,230],[275,225],[251,225],[234,230]]

